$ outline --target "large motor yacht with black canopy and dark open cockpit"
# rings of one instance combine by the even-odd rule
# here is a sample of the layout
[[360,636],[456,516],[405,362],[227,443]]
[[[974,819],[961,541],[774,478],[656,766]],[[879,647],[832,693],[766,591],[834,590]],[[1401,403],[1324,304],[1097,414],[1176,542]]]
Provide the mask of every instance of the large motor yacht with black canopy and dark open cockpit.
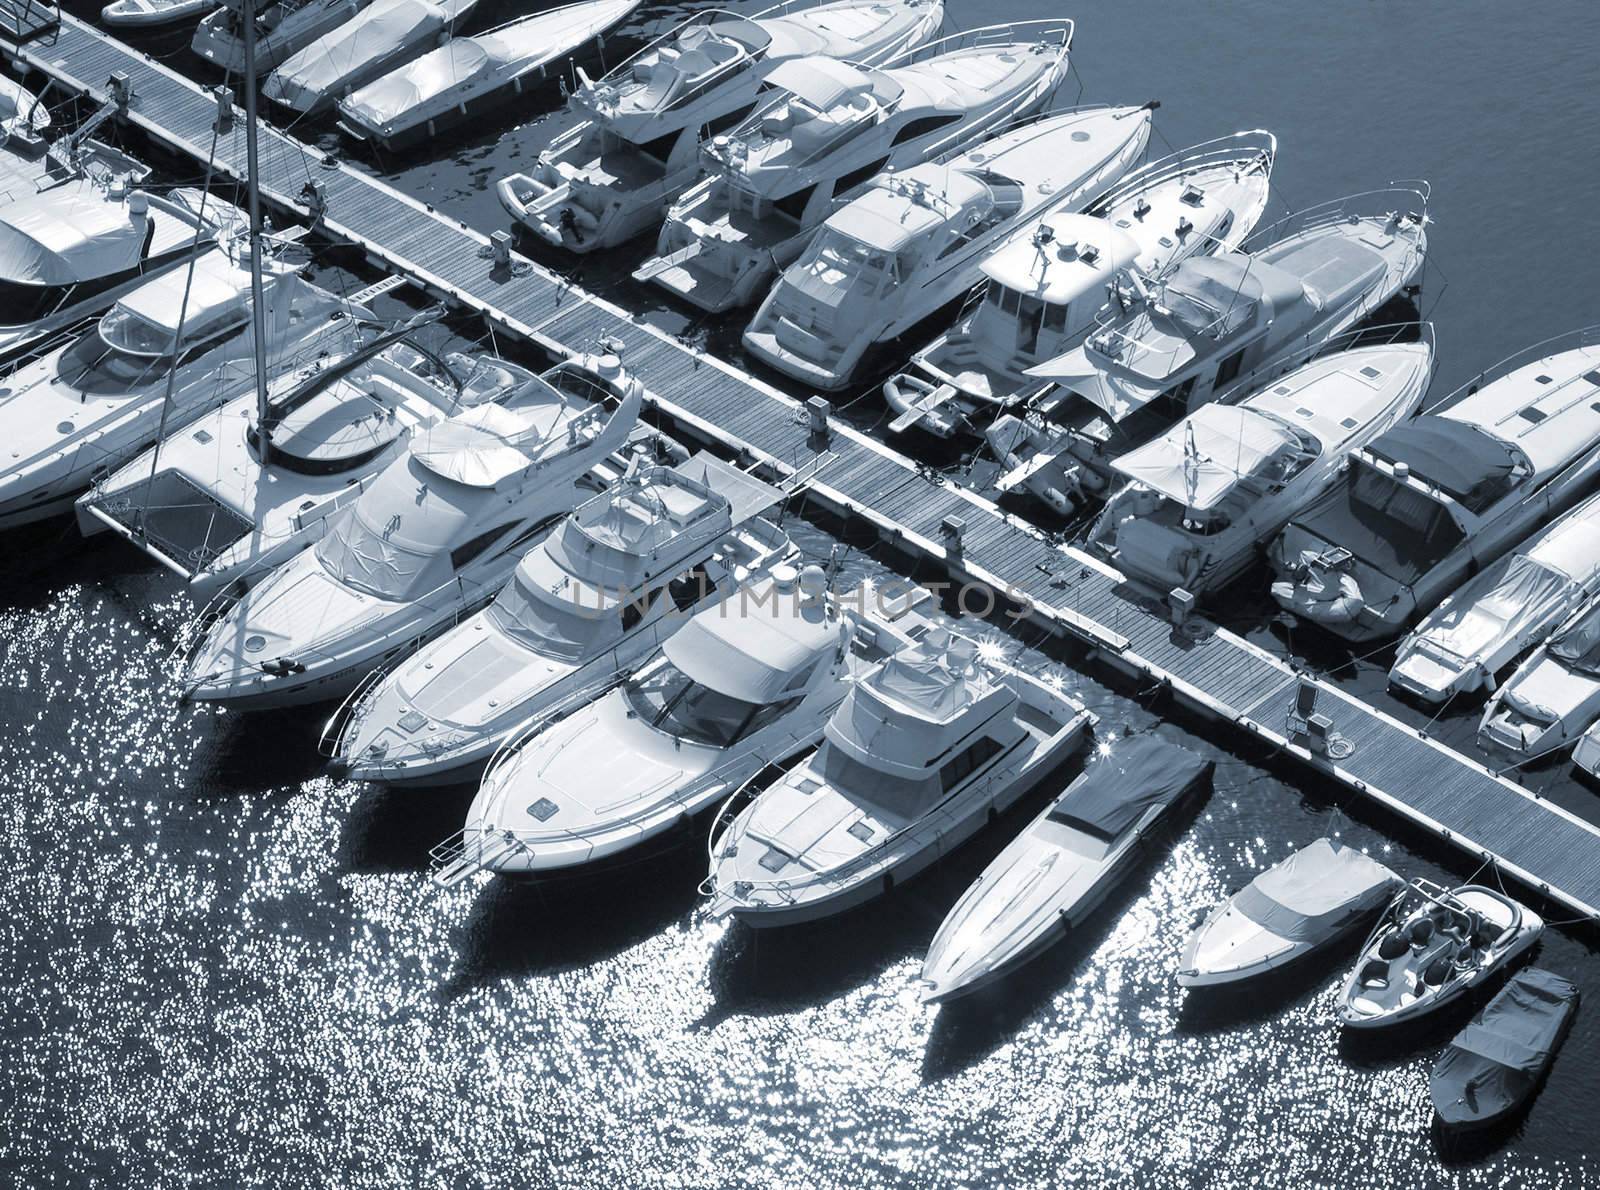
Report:
[[1587,494],[1600,480],[1600,337],[1557,342],[1357,451],[1270,549],[1274,598],[1347,641],[1387,640]]

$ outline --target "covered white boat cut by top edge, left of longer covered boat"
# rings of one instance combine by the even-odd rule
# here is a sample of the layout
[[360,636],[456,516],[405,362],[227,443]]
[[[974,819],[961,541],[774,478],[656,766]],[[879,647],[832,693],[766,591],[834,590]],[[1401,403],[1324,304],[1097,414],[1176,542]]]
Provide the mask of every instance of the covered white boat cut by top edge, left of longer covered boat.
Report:
[[373,0],[304,50],[285,58],[261,85],[267,99],[302,115],[333,107],[382,78],[424,46],[448,40],[478,0]]

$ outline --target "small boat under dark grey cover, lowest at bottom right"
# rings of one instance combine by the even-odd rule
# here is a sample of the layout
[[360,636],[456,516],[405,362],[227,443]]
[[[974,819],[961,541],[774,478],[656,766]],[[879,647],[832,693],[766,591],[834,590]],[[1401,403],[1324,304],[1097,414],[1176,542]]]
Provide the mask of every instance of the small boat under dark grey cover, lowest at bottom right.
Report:
[[1578,988],[1539,968],[1512,976],[1456,1033],[1427,1076],[1448,1128],[1498,1124],[1528,1102],[1555,1062],[1578,1011]]

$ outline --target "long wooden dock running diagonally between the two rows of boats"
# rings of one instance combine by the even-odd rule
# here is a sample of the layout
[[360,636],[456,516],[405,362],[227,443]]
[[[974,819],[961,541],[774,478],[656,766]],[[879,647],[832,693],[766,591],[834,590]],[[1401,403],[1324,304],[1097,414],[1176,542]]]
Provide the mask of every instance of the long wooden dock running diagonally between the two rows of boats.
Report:
[[[131,82],[126,118],[155,141],[222,176],[243,176],[243,114],[214,130],[214,98],[130,46],[64,14],[51,35],[6,45],[11,58],[98,101],[109,80]],[[614,339],[653,405],[678,425],[782,475],[816,470],[810,491],[842,515],[866,518],[890,541],[1026,601],[1030,613],[1098,656],[1170,686],[1186,704],[1270,741],[1286,755],[1387,806],[1478,861],[1600,918],[1600,829],[1542,801],[1485,766],[1382,712],[1296,673],[1288,664],[1206,621],[1174,627],[1165,608],[1117,571],[1053,544],[1027,521],[837,422],[818,435],[811,411],[742,371],[678,342],[627,312],[573,288],[522,256],[493,259],[486,235],[290,136],[262,128],[259,179],[275,206],[310,218],[302,187],[326,203],[322,227],[358,245],[386,269],[459,307],[496,333],[570,353]],[[982,613],[984,600],[968,608]],[[1302,683],[1338,741],[1325,755],[1288,737]]]

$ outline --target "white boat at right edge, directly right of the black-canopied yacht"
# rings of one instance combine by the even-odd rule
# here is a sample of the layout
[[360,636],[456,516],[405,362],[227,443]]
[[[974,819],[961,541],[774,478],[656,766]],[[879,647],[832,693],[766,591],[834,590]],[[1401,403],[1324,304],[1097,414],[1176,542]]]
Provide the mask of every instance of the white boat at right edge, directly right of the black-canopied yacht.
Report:
[[1478,571],[1400,641],[1389,683],[1424,702],[1491,688],[1600,595],[1600,496]]

